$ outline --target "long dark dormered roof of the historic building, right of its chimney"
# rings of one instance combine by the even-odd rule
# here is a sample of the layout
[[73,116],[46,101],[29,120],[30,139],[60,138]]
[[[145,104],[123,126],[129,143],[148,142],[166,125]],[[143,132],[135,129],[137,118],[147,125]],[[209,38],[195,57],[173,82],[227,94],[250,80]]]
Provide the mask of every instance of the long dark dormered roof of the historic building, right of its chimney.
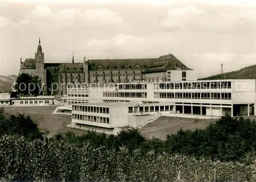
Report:
[[[142,70],[146,72],[157,72],[166,70],[191,70],[185,66],[174,55],[169,54],[159,58],[150,59],[92,59],[88,60],[89,70]],[[163,66],[160,69],[149,70],[151,67]]]

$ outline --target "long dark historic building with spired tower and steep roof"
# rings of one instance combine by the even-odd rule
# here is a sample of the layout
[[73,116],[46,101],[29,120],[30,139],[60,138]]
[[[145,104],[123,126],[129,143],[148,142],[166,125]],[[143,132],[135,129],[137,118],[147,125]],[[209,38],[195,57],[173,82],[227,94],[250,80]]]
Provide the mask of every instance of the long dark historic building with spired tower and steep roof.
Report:
[[[146,59],[92,59],[82,63],[46,63],[39,38],[35,58],[20,58],[19,73],[38,76],[45,95],[66,95],[70,83],[128,83],[197,80],[196,72],[174,55]],[[54,87],[52,87],[54,86]],[[54,88],[54,92],[53,89]]]

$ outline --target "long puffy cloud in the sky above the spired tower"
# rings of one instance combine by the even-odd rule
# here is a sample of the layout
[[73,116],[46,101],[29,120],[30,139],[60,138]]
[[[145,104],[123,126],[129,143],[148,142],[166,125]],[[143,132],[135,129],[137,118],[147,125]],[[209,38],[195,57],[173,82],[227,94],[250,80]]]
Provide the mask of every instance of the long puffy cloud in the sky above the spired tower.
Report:
[[20,21],[21,25],[38,24],[55,28],[87,26],[92,23],[94,26],[121,24],[122,18],[108,9],[66,8],[52,11],[47,6],[35,6],[35,9]]

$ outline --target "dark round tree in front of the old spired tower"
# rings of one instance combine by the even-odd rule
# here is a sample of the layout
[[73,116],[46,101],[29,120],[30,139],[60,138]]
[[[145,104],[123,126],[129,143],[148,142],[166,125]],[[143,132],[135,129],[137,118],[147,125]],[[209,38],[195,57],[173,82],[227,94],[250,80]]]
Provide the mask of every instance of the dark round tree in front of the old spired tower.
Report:
[[33,96],[42,94],[42,92],[40,92],[41,82],[38,77],[32,77],[26,73],[20,74],[17,77],[14,88],[17,90],[18,94],[25,96],[28,96],[30,94],[32,94]]

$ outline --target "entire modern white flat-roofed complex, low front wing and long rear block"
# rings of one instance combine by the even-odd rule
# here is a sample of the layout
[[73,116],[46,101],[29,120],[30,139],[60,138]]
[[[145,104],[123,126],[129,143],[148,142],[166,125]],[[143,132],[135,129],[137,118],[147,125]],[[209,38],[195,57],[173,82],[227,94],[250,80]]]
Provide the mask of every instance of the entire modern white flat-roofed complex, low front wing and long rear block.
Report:
[[[202,119],[225,113],[256,115],[255,80],[134,82],[86,90],[89,103],[72,104],[71,127],[115,133],[114,128],[140,126],[152,115]],[[138,117],[140,122],[135,122]]]

